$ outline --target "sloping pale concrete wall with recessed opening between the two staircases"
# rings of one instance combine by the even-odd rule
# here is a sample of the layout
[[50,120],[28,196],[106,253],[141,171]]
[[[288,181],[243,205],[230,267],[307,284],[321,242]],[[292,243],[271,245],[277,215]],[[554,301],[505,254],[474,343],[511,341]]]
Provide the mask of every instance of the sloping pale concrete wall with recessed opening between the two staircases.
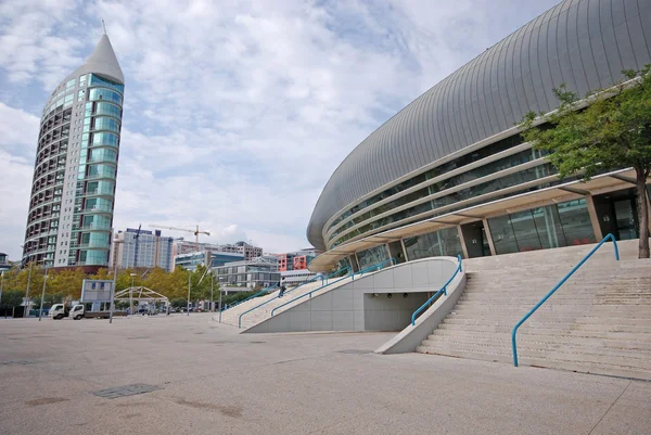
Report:
[[454,257],[386,268],[306,299],[244,332],[398,331],[456,268]]

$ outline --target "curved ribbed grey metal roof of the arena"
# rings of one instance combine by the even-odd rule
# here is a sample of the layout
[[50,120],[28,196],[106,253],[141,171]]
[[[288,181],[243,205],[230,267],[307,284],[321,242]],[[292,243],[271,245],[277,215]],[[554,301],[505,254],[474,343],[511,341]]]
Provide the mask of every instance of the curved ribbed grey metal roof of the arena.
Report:
[[342,208],[399,177],[507,130],[525,113],[549,112],[554,86],[579,94],[651,63],[651,0],[565,0],[416,99],[336,168],[317,202],[307,239]]

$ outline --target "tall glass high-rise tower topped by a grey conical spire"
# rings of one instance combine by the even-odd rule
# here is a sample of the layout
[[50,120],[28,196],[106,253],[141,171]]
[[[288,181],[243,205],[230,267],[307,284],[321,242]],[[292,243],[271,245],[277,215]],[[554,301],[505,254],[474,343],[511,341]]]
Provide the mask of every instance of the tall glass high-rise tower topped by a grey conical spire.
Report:
[[107,266],[125,77],[106,35],[43,108],[23,264]]

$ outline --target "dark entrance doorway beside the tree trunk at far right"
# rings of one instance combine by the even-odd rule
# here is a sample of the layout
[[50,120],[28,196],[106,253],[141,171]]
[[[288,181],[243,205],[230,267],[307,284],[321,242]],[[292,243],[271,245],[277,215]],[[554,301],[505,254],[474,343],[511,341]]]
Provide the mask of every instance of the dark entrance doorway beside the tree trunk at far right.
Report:
[[613,233],[617,240],[640,236],[633,189],[595,196],[595,209],[603,235]]

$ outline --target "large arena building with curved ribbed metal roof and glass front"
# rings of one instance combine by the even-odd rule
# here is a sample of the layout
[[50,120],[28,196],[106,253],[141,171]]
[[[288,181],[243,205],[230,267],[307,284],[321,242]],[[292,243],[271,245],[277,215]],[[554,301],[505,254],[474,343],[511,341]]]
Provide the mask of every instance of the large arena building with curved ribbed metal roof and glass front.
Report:
[[554,87],[585,95],[642,69],[644,35],[651,0],[565,0],[480,53],[336,168],[307,228],[324,251],[310,270],[638,238],[631,168],[560,178],[518,124],[556,110]]

